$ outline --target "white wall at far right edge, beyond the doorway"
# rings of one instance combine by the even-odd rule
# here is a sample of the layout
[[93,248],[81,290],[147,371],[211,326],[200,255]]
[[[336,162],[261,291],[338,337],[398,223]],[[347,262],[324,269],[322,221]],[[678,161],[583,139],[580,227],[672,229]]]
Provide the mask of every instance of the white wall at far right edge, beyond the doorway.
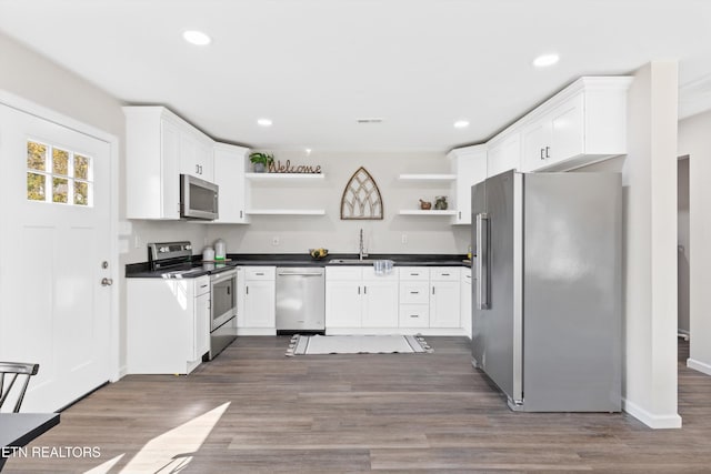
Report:
[[690,354],[687,365],[711,375],[711,112],[679,122],[679,155],[689,155]]

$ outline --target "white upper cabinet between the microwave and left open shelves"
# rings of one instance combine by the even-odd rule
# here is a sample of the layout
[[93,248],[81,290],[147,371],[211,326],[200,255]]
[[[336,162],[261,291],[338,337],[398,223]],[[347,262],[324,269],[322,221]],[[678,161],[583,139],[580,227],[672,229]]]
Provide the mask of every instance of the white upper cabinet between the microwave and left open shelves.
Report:
[[220,186],[218,209],[220,218],[216,224],[247,224],[249,181],[244,179],[244,167],[249,149],[227,143],[214,143],[214,183]]

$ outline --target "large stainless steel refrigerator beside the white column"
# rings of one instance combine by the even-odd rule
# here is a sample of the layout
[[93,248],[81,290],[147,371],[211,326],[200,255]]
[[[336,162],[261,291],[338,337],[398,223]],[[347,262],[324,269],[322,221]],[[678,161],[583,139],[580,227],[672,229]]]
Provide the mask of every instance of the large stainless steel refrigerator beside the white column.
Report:
[[619,412],[618,173],[508,171],[472,186],[472,356],[527,412]]

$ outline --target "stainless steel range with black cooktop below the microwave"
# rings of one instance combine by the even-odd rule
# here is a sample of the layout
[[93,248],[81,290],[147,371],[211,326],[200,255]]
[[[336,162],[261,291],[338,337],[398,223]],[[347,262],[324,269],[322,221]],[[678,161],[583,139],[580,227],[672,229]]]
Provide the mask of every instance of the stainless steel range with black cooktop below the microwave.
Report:
[[168,278],[210,275],[209,359],[214,359],[237,337],[237,269],[223,263],[193,263],[188,241],[149,243],[148,261],[152,271],[162,271]]

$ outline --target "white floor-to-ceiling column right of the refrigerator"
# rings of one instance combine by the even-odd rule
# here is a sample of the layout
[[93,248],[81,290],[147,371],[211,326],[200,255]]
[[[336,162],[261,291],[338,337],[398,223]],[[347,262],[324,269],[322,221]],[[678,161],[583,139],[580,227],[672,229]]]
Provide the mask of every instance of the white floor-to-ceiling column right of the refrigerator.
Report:
[[677,413],[675,61],[653,61],[629,92],[624,185],[623,407],[655,428]]

